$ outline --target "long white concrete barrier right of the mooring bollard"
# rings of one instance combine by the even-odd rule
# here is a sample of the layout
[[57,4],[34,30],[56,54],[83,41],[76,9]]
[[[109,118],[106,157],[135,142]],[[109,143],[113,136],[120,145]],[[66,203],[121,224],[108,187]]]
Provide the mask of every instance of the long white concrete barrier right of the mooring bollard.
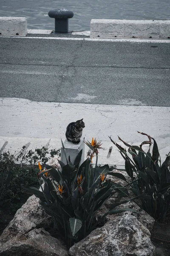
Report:
[[91,20],[91,37],[170,38],[170,20]]

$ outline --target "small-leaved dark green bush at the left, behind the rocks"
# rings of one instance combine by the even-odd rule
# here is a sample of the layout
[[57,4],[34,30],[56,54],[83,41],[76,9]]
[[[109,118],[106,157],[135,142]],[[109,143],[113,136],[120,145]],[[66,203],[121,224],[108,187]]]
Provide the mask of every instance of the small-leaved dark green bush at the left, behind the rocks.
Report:
[[[25,146],[16,154],[10,151],[0,154],[0,210],[14,214],[28,199],[22,186],[40,187],[37,180],[38,160],[48,161],[47,154],[54,157],[59,150],[37,148],[25,152]],[[3,216],[1,216],[3,217]]]

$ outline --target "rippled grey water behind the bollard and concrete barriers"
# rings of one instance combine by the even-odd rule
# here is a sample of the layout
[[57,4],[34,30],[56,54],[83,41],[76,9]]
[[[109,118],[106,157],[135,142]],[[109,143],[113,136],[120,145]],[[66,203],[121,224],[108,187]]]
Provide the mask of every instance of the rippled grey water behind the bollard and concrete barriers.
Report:
[[54,29],[51,9],[74,12],[69,30],[90,30],[91,19],[170,20],[170,0],[0,0],[0,16],[26,17],[28,29]]

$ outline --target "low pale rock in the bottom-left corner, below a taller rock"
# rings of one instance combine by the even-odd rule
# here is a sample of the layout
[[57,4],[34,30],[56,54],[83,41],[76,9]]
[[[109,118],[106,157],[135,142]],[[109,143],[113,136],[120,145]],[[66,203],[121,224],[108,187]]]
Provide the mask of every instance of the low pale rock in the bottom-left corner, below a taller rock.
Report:
[[0,247],[0,256],[68,256],[68,249],[43,228],[11,239]]

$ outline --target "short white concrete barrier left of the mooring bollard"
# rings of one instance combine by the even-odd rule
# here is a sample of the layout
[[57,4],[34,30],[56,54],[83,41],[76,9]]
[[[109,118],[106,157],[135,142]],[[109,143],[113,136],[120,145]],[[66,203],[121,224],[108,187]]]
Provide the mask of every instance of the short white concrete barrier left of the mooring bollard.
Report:
[[0,35],[26,35],[26,17],[0,17]]

